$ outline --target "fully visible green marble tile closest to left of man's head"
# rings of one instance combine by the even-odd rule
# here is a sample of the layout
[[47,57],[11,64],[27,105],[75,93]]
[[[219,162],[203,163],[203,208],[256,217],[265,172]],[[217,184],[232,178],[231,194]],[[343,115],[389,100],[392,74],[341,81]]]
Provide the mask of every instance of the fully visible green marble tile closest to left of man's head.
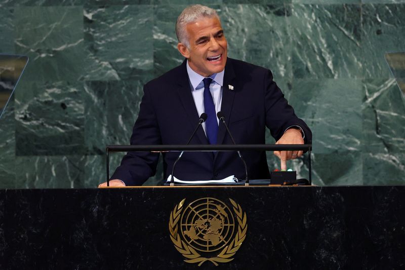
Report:
[[84,80],[153,78],[152,6],[86,6],[84,21],[88,50]]

